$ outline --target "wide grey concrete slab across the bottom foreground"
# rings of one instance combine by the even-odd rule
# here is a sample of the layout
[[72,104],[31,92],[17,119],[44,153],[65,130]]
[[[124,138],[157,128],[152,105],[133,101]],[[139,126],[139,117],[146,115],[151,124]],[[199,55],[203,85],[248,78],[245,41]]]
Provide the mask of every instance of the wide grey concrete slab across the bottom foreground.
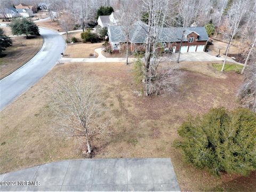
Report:
[[39,186],[0,186],[0,191],[180,190],[170,158],[69,160],[2,174],[0,181],[40,182]]

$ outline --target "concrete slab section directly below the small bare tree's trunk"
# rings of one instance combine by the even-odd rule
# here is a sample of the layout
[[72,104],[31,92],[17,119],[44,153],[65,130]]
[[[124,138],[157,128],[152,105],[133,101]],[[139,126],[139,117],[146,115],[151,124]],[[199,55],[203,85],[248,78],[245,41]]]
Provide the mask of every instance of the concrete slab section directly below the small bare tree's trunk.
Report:
[[94,166],[91,159],[71,161],[63,185],[92,185]]

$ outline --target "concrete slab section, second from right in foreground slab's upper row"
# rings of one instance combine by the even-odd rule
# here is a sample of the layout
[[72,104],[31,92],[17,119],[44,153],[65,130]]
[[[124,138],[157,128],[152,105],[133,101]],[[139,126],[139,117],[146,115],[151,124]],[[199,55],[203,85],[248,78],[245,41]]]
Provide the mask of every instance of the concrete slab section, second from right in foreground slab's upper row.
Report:
[[93,185],[127,185],[126,159],[98,159],[95,163]]

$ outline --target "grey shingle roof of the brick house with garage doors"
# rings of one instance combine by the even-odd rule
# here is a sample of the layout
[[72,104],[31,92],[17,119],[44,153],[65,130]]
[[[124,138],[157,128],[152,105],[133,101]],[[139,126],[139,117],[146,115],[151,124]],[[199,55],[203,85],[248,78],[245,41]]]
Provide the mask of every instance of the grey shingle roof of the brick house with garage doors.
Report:
[[[111,42],[126,42],[125,35],[122,30],[122,26],[109,26],[109,39]],[[186,34],[190,33],[198,34],[197,41],[207,41],[208,35],[204,27],[189,27],[185,31],[183,41],[188,41]],[[159,31],[158,42],[180,42],[180,38],[183,33],[181,27],[163,28]],[[147,25],[141,21],[134,23],[130,33],[131,43],[146,43],[147,37]]]

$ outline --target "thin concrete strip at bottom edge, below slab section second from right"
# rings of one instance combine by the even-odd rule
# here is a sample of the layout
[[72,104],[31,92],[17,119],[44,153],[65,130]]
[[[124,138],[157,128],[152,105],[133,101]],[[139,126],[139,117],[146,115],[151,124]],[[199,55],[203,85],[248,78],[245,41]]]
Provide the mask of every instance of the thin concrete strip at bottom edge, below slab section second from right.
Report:
[[127,185],[92,185],[91,191],[127,191]]

